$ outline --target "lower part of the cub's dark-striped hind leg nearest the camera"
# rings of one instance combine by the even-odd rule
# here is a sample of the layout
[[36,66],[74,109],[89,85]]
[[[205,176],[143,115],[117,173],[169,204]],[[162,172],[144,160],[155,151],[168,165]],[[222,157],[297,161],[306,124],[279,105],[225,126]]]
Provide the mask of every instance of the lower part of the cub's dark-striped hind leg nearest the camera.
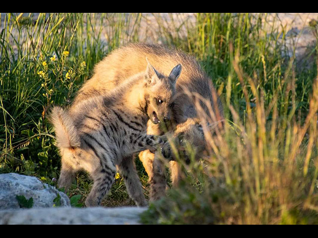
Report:
[[85,200],[86,207],[99,206],[101,200],[114,183],[116,167],[101,167],[102,168],[97,168],[90,173],[91,178],[94,180],[94,184]]

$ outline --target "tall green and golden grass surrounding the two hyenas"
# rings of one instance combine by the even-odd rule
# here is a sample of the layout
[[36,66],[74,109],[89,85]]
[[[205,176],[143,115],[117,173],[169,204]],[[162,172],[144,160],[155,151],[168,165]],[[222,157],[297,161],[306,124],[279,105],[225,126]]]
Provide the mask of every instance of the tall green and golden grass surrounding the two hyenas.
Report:
[[[296,67],[298,59],[286,47],[287,28],[270,27],[267,14],[200,13],[196,23],[177,23],[170,14],[154,17],[159,32],[148,40],[200,61],[228,123],[213,140],[206,131],[209,156],[184,166],[183,185],[151,204],[143,222],[318,224],[317,61]],[[140,13],[4,15],[0,173],[56,183],[60,157],[48,110],[69,105],[94,64],[113,49],[147,41],[142,26],[148,18]],[[317,36],[317,22],[311,27]],[[316,59],[317,51],[317,45],[308,49],[308,59]],[[147,174],[136,163],[147,197]],[[68,195],[80,206],[91,185],[87,174],[79,173]],[[102,204],[134,205],[122,178]]]

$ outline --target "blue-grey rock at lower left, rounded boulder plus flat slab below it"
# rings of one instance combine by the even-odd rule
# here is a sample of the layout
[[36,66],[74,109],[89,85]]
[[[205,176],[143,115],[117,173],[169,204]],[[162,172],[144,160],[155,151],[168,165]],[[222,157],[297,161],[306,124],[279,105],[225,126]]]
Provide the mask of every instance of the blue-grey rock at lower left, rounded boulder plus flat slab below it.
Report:
[[146,209],[71,207],[65,193],[35,177],[0,175],[0,225],[137,225],[139,214]]

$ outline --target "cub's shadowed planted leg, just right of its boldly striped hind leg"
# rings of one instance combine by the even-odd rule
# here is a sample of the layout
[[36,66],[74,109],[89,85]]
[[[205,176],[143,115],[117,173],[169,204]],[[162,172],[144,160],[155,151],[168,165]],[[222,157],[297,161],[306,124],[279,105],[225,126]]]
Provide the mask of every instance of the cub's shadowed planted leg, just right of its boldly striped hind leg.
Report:
[[135,201],[137,206],[147,206],[147,201],[143,193],[143,187],[137,174],[134,157],[123,158],[118,168],[125,180],[125,185],[129,196]]

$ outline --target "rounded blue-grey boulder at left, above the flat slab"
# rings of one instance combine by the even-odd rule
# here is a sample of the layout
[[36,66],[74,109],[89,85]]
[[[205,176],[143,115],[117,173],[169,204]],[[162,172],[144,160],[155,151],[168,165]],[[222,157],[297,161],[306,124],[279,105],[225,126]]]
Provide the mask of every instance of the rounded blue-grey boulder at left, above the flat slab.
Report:
[[70,199],[65,193],[43,183],[40,179],[14,173],[1,174],[0,210],[23,207],[23,202],[19,202],[17,196],[26,201],[32,198],[33,202],[30,201],[31,204],[33,203],[32,208],[71,206]]

